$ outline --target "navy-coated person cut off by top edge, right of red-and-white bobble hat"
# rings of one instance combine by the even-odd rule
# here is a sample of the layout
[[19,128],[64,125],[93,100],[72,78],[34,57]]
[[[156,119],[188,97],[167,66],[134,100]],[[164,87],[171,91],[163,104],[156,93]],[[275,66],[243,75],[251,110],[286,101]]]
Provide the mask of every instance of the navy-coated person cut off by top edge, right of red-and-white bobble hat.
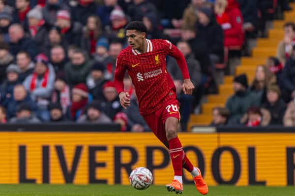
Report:
[[96,13],[96,2],[94,0],[79,0],[78,4],[72,8],[73,21],[81,25],[86,24],[89,16]]

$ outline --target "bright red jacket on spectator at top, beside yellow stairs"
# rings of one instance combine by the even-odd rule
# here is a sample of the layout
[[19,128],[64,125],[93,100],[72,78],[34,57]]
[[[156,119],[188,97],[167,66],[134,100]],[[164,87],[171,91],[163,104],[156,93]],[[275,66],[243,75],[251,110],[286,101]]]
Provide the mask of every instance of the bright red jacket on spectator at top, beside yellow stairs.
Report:
[[236,0],[228,0],[228,6],[221,16],[216,16],[217,22],[224,32],[224,46],[238,49],[244,43],[243,16]]

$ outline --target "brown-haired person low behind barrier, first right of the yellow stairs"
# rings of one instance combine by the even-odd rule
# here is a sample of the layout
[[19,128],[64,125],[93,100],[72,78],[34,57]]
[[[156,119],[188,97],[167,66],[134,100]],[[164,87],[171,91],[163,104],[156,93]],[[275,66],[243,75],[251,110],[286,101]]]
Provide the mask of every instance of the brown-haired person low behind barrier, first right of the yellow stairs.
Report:
[[212,110],[213,121],[211,126],[223,126],[228,123],[230,111],[224,107],[214,107]]

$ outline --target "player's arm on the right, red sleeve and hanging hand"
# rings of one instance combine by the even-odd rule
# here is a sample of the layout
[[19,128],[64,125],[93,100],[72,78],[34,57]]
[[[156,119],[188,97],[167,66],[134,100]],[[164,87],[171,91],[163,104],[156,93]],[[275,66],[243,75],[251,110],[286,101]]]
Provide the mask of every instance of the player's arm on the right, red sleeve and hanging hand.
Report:
[[177,65],[179,66],[179,68],[181,70],[182,77],[183,77],[183,85],[182,85],[183,93],[191,95],[193,93],[193,90],[195,87],[190,80],[190,76],[189,76],[188,69],[187,69],[187,64],[186,64],[183,54],[170,41],[166,40],[165,44],[167,45],[167,54],[176,59]]

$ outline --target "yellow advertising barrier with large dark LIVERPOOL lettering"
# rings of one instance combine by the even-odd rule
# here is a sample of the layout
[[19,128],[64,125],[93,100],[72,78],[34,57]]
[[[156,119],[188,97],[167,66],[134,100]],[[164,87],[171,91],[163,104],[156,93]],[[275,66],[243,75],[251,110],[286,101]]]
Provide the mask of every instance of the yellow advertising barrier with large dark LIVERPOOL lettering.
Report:
[[[94,132],[118,130],[111,125],[4,126],[0,126],[2,184],[127,185],[128,174],[136,167],[150,169],[154,184],[173,178],[169,152],[152,133]],[[179,137],[209,185],[294,185],[293,128],[224,127]],[[184,182],[193,183],[186,171]]]

